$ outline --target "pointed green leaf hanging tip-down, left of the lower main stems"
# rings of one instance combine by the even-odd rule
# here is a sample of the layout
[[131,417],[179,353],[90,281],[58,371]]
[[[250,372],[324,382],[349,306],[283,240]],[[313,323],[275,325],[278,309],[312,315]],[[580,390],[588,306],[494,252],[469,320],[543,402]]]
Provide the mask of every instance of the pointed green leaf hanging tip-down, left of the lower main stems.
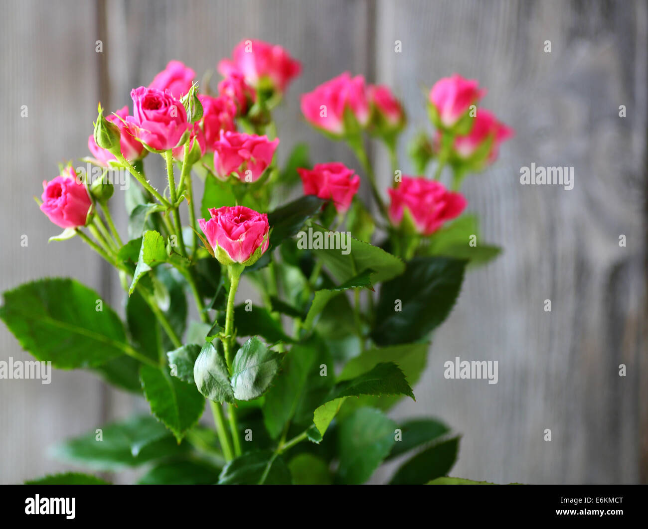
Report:
[[142,365],[139,377],[154,416],[172,431],[179,443],[185,432],[200,419],[205,399],[194,385],[172,377],[166,367],[157,369]]

